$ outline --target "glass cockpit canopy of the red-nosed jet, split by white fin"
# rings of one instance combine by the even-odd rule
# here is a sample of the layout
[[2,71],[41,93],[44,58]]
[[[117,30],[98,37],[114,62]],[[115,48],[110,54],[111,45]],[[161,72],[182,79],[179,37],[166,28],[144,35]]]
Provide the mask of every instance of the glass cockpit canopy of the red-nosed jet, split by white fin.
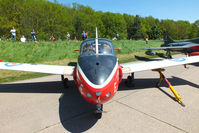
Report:
[[[99,55],[115,55],[113,43],[108,39],[98,39]],[[89,39],[81,44],[80,56],[96,55],[96,39]]]

